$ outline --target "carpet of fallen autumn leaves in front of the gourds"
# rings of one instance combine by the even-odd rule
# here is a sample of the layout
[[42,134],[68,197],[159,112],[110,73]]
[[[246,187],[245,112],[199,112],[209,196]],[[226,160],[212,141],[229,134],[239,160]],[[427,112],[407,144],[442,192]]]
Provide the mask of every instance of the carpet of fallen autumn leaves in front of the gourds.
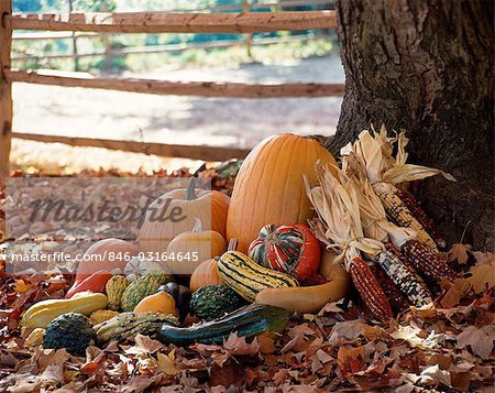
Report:
[[[215,188],[232,186],[229,172],[202,176]],[[4,192],[0,198],[1,208]],[[388,325],[352,304],[328,304],[319,315],[295,315],[283,335],[252,342],[231,335],[222,346],[177,348],[139,335],[90,347],[85,358],[44,350],[19,326],[30,305],[63,297],[73,276],[1,270],[0,391],[492,391],[495,255],[454,244],[444,258],[460,277],[442,283],[435,307],[408,310]]]

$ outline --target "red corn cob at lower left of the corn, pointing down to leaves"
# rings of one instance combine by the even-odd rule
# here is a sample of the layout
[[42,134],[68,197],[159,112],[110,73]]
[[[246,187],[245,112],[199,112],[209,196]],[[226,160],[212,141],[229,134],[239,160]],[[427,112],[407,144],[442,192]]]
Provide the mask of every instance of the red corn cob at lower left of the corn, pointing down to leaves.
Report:
[[355,288],[373,316],[383,321],[393,318],[388,298],[366,262],[361,258],[354,258],[349,272]]

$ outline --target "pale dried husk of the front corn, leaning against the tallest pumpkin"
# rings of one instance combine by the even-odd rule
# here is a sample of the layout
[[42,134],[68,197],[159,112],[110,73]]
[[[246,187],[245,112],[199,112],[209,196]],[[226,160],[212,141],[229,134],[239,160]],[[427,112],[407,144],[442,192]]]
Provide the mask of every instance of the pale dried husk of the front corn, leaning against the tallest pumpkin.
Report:
[[310,188],[305,179],[306,193],[318,215],[310,225],[320,241],[338,251],[334,263],[344,263],[349,270],[352,260],[360,256],[360,251],[369,255],[383,251],[382,242],[364,237],[359,195],[351,178],[334,166],[330,168],[317,163],[315,168],[319,186]]

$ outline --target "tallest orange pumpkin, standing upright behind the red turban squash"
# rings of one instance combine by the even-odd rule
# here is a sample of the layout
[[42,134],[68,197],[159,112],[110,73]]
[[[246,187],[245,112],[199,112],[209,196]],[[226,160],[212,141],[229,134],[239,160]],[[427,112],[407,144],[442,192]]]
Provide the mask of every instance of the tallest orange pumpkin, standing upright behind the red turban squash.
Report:
[[306,223],[311,204],[302,176],[318,182],[315,163],[336,164],[315,139],[290,133],[262,141],[244,160],[232,192],[227,218],[227,238],[238,238],[238,250],[246,252],[267,223]]

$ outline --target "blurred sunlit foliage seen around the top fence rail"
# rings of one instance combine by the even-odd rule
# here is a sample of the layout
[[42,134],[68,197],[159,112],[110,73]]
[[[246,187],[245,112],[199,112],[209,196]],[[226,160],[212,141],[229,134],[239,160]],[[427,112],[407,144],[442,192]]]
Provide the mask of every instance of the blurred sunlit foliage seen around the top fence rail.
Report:
[[[251,4],[273,3],[273,0],[251,0]],[[253,11],[309,11],[329,9],[327,4],[270,6]],[[224,9],[232,6],[230,9]],[[13,0],[14,12],[101,12],[101,11],[198,11],[198,12],[241,12],[240,0]],[[217,8],[217,9],[216,9]],[[220,8],[220,10],[218,10]],[[223,8],[223,9],[222,9]],[[21,35],[25,32],[19,32]],[[255,43],[264,37],[299,36],[270,45],[254,44],[251,51],[244,45],[243,34],[112,34],[109,36],[77,39],[77,53],[82,55],[77,62],[73,57],[52,58],[46,55],[72,55],[74,42],[65,40],[15,40],[12,45],[13,67],[21,69],[52,68],[64,70],[84,70],[91,73],[120,73],[123,70],[148,70],[164,64],[176,67],[189,66],[235,66],[243,63],[274,64],[284,59],[324,56],[336,50],[333,31],[275,32],[252,35]],[[296,37],[294,37],[296,39]],[[132,47],[157,47],[163,45],[207,44],[221,41],[238,43],[229,47],[188,48],[177,52],[121,54],[119,51]],[[84,56],[85,54],[96,54]]]

